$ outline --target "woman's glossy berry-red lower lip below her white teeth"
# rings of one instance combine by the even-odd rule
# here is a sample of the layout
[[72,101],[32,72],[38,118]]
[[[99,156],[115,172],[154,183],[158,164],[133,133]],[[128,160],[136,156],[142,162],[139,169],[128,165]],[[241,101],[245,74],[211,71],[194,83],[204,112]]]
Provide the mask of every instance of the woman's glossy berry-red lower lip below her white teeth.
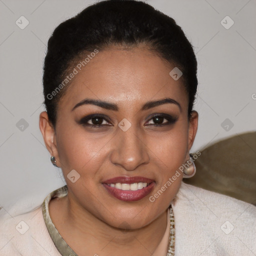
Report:
[[106,188],[106,190],[116,197],[119,200],[122,201],[138,201],[142,199],[143,197],[147,196],[153,189],[154,182],[151,182],[148,186],[143,187],[138,190],[121,190],[115,187],[111,187],[107,184],[103,184],[103,186]]

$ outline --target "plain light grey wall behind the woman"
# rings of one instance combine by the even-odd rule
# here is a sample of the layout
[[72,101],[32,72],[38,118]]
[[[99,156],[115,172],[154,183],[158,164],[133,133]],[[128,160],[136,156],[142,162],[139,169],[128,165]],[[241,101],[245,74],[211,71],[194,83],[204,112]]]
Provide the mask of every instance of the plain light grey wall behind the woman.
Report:
[[[39,113],[44,110],[42,63],[53,29],[93,2],[0,0],[0,206],[5,210],[23,199],[28,201],[26,208],[33,208],[65,184],[61,170],[50,163],[38,127]],[[194,109],[199,126],[191,152],[255,130],[256,1],[147,2],[176,20],[196,52]],[[21,15],[29,21],[24,29],[15,23]],[[227,15],[234,21],[229,29],[220,23]],[[21,118],[28,124],[23,130]],[[221,125],[226,118],[228,128]]]

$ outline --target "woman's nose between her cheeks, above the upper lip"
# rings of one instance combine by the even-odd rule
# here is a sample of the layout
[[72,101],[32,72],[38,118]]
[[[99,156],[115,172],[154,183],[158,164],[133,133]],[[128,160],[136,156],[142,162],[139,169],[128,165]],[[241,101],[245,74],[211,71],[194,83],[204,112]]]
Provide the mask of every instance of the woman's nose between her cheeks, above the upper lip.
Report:
[[119,129],[112,146],[111,162],[125,170],[135,170],[139,165],[149,162],[145,137],[139,134],[133,125],[126,131]]

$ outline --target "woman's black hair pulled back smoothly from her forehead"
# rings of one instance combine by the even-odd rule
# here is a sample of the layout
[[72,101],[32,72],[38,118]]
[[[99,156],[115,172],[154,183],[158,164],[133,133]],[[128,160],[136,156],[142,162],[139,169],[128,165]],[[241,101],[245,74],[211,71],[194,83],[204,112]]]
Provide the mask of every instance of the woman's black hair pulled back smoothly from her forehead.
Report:
[[61,86],[54,96],[52,91],[61,84],[81,53],[100,51],[114,44],[132,47],[139,43],[145,43],[182,71],[189,118],[197,88],[197,62],[181,27],[173,18],[145,2],[104,0],[60,23],[48,40],[43,67],[43,103],[53,126],[57,103],[68,86]]

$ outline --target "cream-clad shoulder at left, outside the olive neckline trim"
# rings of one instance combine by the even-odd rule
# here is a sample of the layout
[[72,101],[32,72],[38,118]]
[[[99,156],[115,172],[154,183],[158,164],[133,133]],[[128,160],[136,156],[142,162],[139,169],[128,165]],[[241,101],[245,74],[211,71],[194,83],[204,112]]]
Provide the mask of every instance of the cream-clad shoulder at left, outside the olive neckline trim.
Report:
[[[46,228],[41,205],[18,214],[0,209],[0,255],[60,256]],[[10,213],[11,212],[11,213]]]

